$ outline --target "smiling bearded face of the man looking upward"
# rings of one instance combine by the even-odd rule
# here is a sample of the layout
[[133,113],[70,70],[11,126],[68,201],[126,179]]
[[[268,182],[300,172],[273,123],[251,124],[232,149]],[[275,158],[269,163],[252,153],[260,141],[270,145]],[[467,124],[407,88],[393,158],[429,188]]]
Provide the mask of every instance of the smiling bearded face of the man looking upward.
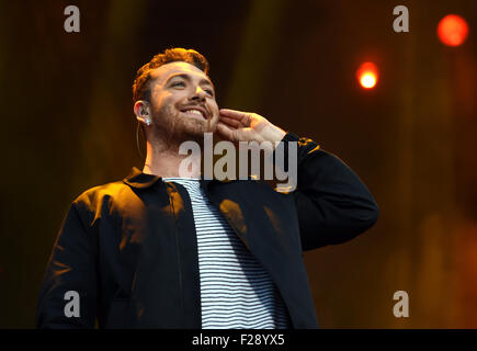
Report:
[[151,72],[150,110],[157,132],[180,143],[203,141],[205,132],[215,132],[219,116],[209,78],[184,61]]

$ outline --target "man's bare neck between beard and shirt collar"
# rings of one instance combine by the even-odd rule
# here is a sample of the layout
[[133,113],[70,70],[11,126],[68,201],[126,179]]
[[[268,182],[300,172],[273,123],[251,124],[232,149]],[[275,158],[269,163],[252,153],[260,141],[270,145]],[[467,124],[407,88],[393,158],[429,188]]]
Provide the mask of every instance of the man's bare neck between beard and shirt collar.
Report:
[[[201,155],[180,155],[179,145],[168,145],[167,143],[157,141],[151,144],[147,141],[146,161],[143,172],[147,174],[155,174],[162,178],[166,177],[201,177]],[[188,174],[180,174],[181,162],[189,158]],[[191,168],[191,163],[194,167]],[[192,172],[191,172],[192,170]]]

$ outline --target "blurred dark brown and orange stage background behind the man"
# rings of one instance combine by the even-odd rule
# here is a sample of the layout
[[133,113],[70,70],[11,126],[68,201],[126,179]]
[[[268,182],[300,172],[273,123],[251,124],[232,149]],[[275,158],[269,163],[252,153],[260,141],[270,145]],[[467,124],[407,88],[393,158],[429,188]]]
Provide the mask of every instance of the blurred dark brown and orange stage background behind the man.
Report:
[[2,0],[0,328],[34,328],[70,202],[143,168],[130,87],[174,46],[207,57],[220,107],[317,140],[379,204],[371,230],[305,254],[321,328],[477,328],[476,24],[474,0]]

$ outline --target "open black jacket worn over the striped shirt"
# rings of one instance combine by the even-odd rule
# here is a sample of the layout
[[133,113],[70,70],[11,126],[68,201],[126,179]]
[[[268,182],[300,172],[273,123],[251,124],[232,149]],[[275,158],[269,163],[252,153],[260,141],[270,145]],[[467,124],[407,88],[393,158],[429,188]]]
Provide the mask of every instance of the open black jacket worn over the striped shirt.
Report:
[[[298,140],[286,134],[283,141]],[[306,138],[288,194],[262,181],[201,180],[209,200],[276,284],[293,328],[317,328],[303,251],[373,226],[378,207],[359,177]],[[36,310],[38,328],[201,328],[197,246],[186,190],[137,168],[78,196],[58,233]],[[65,293],[80,296],[66,317]]]

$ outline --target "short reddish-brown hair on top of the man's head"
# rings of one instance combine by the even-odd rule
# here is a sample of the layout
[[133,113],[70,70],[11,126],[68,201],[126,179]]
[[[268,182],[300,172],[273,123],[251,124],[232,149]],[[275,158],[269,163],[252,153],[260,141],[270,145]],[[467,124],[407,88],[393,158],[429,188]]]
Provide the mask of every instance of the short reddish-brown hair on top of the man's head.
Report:
[[194,49],[185,49],[182,47],[168,48],[163,53],[154,56],[149,63],[137,70],[133,83],[133,102],[138,100],[149,101],[150,72],[162,65],[173,61],[184,61],[194,65],[204,73],[208,75],[208,61],[202,54]]

